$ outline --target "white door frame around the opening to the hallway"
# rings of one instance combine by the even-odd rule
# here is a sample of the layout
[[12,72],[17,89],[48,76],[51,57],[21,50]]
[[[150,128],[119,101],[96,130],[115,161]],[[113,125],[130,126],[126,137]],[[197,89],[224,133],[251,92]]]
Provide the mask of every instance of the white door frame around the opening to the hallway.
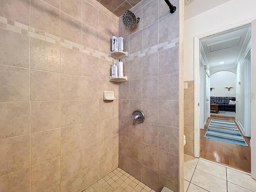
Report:
[[[200,103],[200,39],[206,38],[208,36],[212,36],[214,34],[218,34],[221,32],[225,32],[228,30],[232,30],[234,28],[245,26],[247,24],[251,24],[253,20],[255,20],[255,18],[251,18],[249,20],[238,22],[236,24],[231,24],[223,28],[218,28],[216,30],[209,31],[204,34],[194,36],[194,156],[197,158],[200,157],[200,107],[199,107],[199,103]],[[254,71],[253,69],[254,67],[252,67],[252,71]],[[252,76],[252,78],[254,77]],[[255,77],[255,80],[252,79],[252,87],[256,86],[255,84],[253,85],[253,82],[255,81],[256,81],[256,77]],[[252,90],[252,93],[253,93],[253,90]],[[252,102],[251,107],[253,107],[254,105],[256,106],[256,102]],[[251,138],[252,138],[252,142],[254,142],[254,140],[256,139],[254,138],[254,135],[251,135]],[[256,144],[256,141],[254,143]],[[256,151],[255,147],[251,148],[251,156],[252,156],[251,167],[252,167],[252,175],[254,176],[256,176],[256,170],[253,169],[253,168],[256,168],[256,154],[254,154],[254,152]]]

